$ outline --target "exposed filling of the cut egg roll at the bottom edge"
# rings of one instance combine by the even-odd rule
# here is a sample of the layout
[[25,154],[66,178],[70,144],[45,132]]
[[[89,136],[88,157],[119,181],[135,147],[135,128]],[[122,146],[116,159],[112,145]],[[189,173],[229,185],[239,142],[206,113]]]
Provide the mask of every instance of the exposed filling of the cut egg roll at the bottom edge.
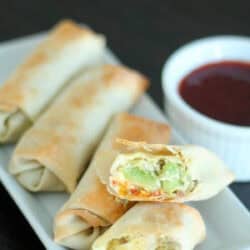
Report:
[[155,237],[143,237],[140,235],[131,237],[123,236],[119,239],[112,239],[107,245],[107,250],[129,250],[129,249],[152,249],[152,250],[180,250],[177,242],[162,236],[159,239]]

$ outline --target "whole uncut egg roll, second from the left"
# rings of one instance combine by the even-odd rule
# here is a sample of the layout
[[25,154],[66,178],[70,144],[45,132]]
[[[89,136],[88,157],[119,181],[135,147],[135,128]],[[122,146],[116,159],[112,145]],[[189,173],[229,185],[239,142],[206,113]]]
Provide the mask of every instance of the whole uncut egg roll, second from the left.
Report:
[[123,66],[86,70],[24,134],[9,171],[30,191],[72,192],[111,117],[129,109],[147,84]]

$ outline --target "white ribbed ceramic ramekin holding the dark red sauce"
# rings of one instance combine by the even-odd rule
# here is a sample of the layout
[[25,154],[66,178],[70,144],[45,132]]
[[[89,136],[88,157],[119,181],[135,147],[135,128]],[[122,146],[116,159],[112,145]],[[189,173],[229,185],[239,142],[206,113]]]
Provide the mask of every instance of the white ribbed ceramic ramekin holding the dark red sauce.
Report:
[[225,124],[198,113],[183,101],[178,91],[180,81],[195,68],[225,60],[250,62],[250,39],[241,36],[209,37],[174,52],[162,72],[165,109],[172,125],[188,143],[210,148],[224,159],[238,181],[249,181],[250,127]]

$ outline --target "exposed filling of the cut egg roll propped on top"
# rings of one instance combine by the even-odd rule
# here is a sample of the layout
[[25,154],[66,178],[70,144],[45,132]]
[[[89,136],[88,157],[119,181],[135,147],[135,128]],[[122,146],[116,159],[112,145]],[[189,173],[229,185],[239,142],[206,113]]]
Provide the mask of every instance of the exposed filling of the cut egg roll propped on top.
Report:
[[177,155],[120,154],[111,169],[110,186],[120,197],[172,199],[191,192],[196,185]]

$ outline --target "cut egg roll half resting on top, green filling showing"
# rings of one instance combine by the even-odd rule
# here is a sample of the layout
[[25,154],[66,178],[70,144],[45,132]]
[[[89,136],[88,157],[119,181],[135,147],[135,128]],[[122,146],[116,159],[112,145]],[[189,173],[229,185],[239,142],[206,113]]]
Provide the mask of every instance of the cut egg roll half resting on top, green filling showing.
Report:
[[216,195],[234,177],[212,152],[117,139],[121,153],[110,169],[109,191],[131,201],[194,201]]

